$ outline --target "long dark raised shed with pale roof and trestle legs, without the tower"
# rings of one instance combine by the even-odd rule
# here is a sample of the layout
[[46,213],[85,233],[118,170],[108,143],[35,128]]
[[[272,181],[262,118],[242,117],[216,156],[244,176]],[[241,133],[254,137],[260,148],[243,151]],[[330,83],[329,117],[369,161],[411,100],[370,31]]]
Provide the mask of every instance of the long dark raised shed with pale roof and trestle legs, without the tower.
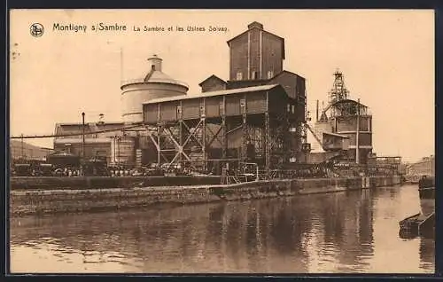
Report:
[[252,161],[277,168],[301,151],[305,102],[279,84],[217,90],[144,103],[151,161],[216,163]]

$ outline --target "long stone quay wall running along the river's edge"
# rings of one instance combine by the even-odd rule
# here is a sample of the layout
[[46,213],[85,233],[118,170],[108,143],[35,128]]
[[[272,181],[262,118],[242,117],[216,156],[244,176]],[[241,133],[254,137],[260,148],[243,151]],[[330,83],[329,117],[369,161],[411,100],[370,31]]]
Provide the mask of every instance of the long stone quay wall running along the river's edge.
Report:
[[11,215],[75,213],[183,205],[222,200],[251,200],[342,192],[400,184],[398,176],[313,178],[258,181],[243,184],[177,185],[156,187],[18,190],[10,193]]

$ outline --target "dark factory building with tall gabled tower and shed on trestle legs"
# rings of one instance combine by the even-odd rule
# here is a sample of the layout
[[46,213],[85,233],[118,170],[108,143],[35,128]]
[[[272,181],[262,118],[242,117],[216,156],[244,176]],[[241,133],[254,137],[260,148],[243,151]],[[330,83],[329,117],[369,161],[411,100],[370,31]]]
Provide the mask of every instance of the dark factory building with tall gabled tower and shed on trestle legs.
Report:
[[228,41],[229,80],[211,75],[201,93],[144,101],[150,162],[255,162],[267,170],[299,162],[306,113],[305,79],[283,70],[284,39],[253,22]]

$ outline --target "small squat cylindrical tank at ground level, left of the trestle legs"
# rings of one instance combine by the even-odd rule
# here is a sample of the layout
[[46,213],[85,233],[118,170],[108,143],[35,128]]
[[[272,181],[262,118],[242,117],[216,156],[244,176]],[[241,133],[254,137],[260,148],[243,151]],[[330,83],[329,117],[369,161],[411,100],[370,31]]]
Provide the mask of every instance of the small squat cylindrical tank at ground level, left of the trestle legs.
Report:
[[136,139],[134,137],[115,137],[111,142],[111,163],[132,166],[135,164]]

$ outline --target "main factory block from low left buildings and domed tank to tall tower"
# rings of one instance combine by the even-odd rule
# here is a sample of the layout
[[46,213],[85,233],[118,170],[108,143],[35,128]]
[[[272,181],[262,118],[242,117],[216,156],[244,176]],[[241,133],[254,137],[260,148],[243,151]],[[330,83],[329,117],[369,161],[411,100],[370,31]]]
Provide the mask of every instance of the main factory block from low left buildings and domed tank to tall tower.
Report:
[[[103,156],[109,164],[180,163],[206,171],[225,162],[269,170],[306,160],[306,84],[284,70],[284,38],[253,22],[228,46],[229,79],[211,75],[192,95],[153,55],[142,78],[121,84],[122,122],[86,123],[84,143],[82,124],[59,123],[55,150]],[[118,130],[100,132],[107,129]]]

